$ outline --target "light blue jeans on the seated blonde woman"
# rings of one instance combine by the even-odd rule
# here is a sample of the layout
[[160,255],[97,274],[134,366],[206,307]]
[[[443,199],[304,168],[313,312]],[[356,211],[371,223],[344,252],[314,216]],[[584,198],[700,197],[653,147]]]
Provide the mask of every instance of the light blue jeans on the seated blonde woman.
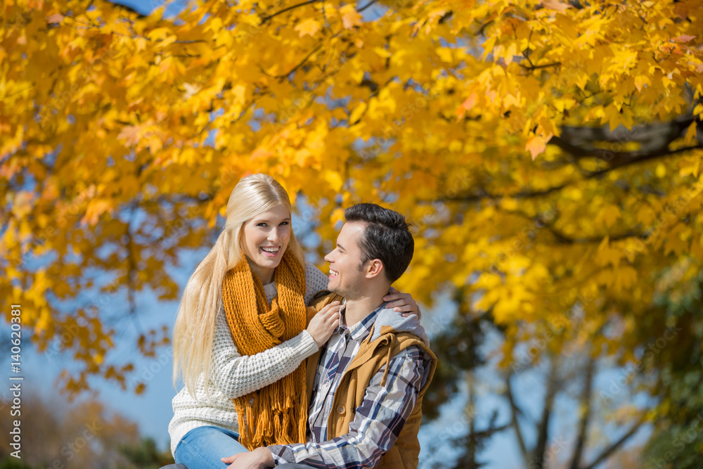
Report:
[[176,463],[188,469],[225,469],[228,464],[220,458],[249,451],[239,442],[239,435],[231,430],[206,425],[193,428],[176,446]]

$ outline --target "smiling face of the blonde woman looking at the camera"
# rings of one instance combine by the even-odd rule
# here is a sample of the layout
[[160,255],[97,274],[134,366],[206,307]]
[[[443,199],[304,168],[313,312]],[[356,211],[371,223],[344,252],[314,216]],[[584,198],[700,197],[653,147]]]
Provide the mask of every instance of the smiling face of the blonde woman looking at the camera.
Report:
[[273,269],[288,248],[290,231],[290,213],[285,205],[276,205],[244,224],[242,248],[264,285],[273,281]]

